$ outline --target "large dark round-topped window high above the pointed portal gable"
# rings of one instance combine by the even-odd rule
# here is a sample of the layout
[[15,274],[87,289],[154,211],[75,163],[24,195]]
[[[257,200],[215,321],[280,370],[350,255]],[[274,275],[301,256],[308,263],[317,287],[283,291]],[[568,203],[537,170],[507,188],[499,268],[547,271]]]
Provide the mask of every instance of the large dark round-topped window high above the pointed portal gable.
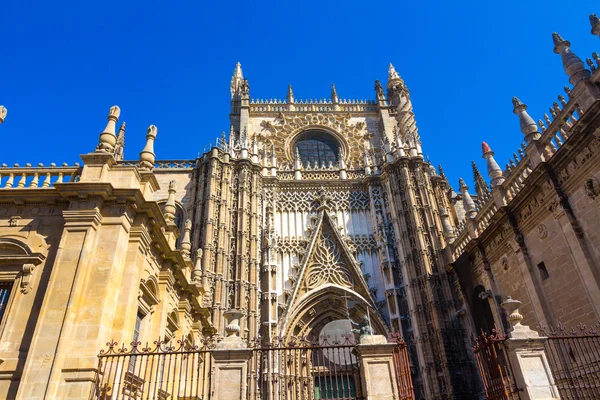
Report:
[[329,163],[337,165],[340,157],[339,142],[331,134],[319,129],[301,133],[296,139],[294,153],[296,150],[300,154],[302,164],[308,161],[311,165],[315,162],[319,166],[329,166]]

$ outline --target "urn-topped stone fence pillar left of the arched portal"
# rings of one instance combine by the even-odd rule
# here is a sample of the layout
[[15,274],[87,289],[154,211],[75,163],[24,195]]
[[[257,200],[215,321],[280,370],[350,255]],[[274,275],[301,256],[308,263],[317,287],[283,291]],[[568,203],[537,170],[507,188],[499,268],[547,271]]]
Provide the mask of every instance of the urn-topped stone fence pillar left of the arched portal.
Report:
[[212,352],[214,375],[211,382],[211,399],[248,398],[248,360],[252,350],[247,348],[239,336],[241,316],[242,313],[236,311],[225,313],[225,318],[229,321],[225,327],[227,337],[219,342]]

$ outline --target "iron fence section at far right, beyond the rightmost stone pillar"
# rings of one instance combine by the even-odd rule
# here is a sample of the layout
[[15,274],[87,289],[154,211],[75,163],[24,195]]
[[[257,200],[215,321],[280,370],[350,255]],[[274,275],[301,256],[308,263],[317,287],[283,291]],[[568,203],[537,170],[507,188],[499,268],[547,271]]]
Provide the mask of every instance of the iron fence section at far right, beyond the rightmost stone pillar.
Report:
[[567,329],[539,327],[547,336],[546,356],[562,399],[600,397],[600,323]]

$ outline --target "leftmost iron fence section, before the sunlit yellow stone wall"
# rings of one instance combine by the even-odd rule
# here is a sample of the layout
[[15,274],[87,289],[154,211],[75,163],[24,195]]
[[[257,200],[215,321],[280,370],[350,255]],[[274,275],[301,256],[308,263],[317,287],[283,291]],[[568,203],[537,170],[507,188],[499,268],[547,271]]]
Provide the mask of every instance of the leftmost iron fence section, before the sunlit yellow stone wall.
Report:
[[107,343],[98,355],[94,400],[209,399],[213,340],[176,346],[132,342],[130,348]]

